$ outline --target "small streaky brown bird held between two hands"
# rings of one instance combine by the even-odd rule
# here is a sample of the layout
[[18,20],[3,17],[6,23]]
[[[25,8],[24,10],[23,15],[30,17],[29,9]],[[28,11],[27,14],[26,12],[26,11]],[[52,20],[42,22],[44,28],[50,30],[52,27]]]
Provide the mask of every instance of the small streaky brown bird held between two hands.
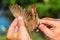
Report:
[[39,18],[35,5],[28,8],[27,10],[23,9],[21,6],[17,4],[11,5],[9,8],[12,14],[14,15],[14,17],[19,17],[19,16],[23,17],[25,26],[29,32],[36,29],[36,27],[39,24]]

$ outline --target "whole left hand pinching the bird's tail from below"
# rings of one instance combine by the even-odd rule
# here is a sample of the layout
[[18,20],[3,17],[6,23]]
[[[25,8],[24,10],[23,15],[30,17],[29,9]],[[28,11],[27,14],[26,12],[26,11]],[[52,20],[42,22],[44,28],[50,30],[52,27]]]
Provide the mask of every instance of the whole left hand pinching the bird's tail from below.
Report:
[[11,23],[7,32],[7,38],[8,40],[30,40],[22,17],[14,19]]

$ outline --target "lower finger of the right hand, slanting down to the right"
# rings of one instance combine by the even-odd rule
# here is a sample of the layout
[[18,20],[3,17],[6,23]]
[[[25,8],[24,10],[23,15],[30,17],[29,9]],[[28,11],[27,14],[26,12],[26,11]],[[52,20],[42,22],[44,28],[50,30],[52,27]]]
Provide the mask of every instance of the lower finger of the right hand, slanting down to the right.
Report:
[[53,35],[54,33],[53,33],[49,28],[47,28],[44,24],[40,24],[39,29],[40,29],[45,35],[47,35],[48,37],[50,37],[50,38],[51,38],[51,36],[54,37],[54,35]]

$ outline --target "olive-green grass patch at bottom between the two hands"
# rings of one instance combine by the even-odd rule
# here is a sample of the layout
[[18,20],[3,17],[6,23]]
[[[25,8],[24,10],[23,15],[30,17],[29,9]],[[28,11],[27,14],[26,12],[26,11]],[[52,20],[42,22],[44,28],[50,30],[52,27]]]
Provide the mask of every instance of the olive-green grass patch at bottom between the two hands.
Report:
[[32,40],[49,40],[42,32],[39,33],[31,32],[30,36]]

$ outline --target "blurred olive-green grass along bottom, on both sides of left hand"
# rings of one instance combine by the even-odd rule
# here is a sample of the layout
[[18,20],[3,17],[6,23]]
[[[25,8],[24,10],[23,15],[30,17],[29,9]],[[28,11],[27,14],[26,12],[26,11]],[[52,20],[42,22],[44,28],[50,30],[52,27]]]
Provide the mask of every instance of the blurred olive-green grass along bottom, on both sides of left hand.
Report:
[[[30,36],[31,36],[32,40],[48,40],[48,38],[46,38],[46,36],[43,35],[42,32],[40,32],[40,33],[31,32]],[[7,40],[6,34],[0,35],[0,40]]]

